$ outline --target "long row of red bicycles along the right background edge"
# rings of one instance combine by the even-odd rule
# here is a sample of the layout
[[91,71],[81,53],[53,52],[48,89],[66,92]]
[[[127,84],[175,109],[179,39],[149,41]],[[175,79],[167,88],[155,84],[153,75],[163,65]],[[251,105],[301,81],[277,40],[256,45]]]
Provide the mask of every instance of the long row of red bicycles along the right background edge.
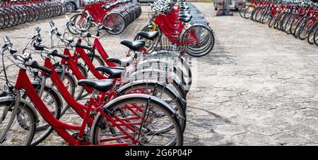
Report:
[[312,1],[252,1],[240,16],[318,46],[318,4]]

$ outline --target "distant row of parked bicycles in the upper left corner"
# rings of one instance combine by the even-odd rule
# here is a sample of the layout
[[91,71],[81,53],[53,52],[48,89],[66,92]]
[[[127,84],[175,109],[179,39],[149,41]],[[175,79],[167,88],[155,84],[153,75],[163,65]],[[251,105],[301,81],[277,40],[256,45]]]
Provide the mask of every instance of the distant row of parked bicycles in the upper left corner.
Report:
[[60,2],[1,1],[0,28],[61,16],[65,13],[66,7]]

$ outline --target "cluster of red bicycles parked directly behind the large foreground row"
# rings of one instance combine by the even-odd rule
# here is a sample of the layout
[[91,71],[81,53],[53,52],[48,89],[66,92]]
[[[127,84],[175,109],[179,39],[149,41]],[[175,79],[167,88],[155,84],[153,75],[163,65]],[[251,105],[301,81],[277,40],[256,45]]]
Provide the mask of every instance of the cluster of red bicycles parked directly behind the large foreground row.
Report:
[[[153,11],[148,25],[143,31],[158,31],[156,39],[147,40],[148,51],[180,51],[191,56],[205,56],[214,47],[213,30],[208,20],[201,12],[180,1],[177,8],[174,8],[177,1],[158,0],[151,4]],[[135,39],[144,39],[137,35]]]

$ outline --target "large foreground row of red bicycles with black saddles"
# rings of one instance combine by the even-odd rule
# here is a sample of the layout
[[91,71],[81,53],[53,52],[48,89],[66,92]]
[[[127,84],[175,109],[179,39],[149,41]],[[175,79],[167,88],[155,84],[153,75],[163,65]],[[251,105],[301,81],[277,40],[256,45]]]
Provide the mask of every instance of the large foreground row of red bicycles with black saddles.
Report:
[[[187,3],[178,8],[188,8]],[[179,16],[185,25],[187,18]],[[79,30],[66,19],[64,32],[49,21],[49,46],[40,27],[23,51],[4,37],[0,144],[40,144],[55,130],[71,145],[182,145],[192,84],[187,59],[177,51],[148,52],[146,41],[160,36],[155,30],[139,32],[145,40],[122,41],[129,48],[126,58],[109,57],[99,35],[112,28]],[[7,75],[12,66],[19,67],[16,80]],[[81,117],[80,125],[60,120],[69,110]]]

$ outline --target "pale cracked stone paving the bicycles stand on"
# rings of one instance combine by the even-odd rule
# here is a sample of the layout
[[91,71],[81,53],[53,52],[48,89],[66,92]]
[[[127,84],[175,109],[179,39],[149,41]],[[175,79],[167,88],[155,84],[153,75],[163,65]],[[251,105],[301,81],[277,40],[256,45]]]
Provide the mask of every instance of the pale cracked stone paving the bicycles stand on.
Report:
[[[213,4],[195,5],[210,20],[216,44],[211,54],[196,59],[184,144],[317,145],[318,48],[237,13],[216,17]],[[64,16],[52,20],[63,28]],[[0,30],[0,37],[8,35],[21,50],[35,26],[48,37],[47,21]],[[132,39],[147,22],[143,13],[122,35],[103,35],[102,44],[111,56],[124,56],[127,49],[119,42]],[[45,144],[65,142],[51,135]]]

